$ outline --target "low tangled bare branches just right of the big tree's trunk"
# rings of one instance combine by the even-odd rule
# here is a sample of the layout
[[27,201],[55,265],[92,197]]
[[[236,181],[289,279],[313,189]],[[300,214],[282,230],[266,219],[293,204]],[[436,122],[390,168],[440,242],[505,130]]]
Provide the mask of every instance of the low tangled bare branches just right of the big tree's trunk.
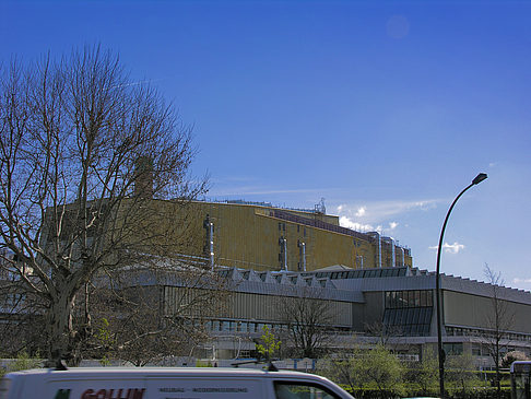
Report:
[[102,285],[91,295],[97,331],[86,351],[135,366],[189,354],[209,338],[205,320],[223,309],[227,296],[223,279],[196,268],[127,270]]

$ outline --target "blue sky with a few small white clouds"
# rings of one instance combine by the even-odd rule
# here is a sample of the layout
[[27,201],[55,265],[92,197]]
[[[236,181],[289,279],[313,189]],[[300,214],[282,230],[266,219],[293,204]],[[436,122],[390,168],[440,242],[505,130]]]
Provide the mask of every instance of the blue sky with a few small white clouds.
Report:
[[0,59],[102,43],[194,126],[210,198],[379,228],[531,289],[530,1],[5,1]]

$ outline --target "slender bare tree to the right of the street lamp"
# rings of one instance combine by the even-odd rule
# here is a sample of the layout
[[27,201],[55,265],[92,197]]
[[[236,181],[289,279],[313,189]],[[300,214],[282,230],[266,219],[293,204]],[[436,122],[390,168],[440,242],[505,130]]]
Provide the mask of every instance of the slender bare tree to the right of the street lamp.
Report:
[[483,335],[483,339],[486,341],[488,353],[496,367],[496,392],[497,398],[500,398],[502,388],[499,383],[502,376],[499,367],[502,366],[503,360],[502,341],[515,322],[515,314],[510,310],[508,302],[502,298],[504,285],[502,273],[495,272],[488,265],[485,265],[484,274],[491,287],[491,305],[485,309],[485,324],[488,331]]

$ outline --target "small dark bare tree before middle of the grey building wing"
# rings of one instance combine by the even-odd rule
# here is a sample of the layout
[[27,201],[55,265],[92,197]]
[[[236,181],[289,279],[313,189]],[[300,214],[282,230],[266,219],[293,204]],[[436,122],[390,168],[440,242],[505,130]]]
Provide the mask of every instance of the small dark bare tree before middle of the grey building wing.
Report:
[[329,340],[333,315],[330,302],[320,295],[320,290],[309,286],[293,286],[286,295],[279,296],[281,320],[287,325],[286,341],[303,357],[318,357]]

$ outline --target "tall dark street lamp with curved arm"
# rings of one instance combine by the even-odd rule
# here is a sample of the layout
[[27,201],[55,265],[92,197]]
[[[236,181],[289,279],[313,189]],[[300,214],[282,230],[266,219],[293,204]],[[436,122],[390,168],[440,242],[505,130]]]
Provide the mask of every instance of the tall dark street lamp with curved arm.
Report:
[[444,399],[445,398],[445,351],[442,350],[442,333],[441,333],[441,316],[440,316],[440,250],[442,248],[442,238],[445,236],[445,228],[446,224],[448,223],[448,218],[450,218],[451,210],[453,209],[453,206],[458,201],[459,198],[472,186],[479,185],[482,183],[484,179],[487,178],[487,175],[485,173],[480,173],[475,178],[472,180],[472,183],[465,187],[459,196],[456,197],[453,202],[450,206],[450,209],[448,210],[448,213],[446,214],[445,223],[442,224],[442,228],[440,231],[440,237],[439,237],[439,246],[437,247],[437,269],[435,271],[435,295],[436,295],[436,305],[437,305],[437,351],[438,351],[438,359],[439,359],[439,395]]

